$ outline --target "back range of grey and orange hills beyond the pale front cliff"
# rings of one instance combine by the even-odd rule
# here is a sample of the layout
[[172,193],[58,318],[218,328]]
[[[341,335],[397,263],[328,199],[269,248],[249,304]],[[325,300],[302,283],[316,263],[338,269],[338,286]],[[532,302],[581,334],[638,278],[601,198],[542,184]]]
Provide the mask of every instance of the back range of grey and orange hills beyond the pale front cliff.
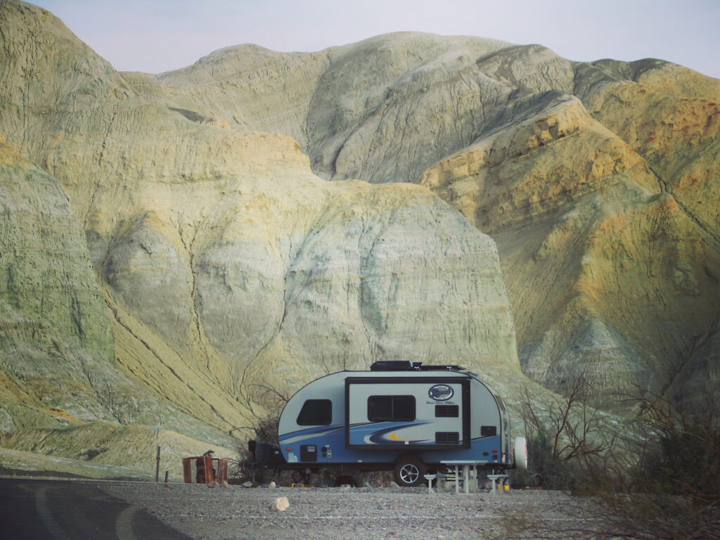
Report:
[[228,48],[145,77],[178,109],[292,135],[323,178],[420,183],[453,204],[498,244],[536,381],[685,384],[720,310],[716,79],[410,32],[306,55]]

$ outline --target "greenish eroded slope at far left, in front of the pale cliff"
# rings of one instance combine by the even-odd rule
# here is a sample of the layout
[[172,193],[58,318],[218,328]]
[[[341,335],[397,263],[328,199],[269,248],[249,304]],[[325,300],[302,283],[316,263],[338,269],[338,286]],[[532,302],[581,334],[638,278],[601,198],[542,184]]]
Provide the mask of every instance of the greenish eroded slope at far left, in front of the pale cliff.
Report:
[[58,182],[1,143],[0,177],[2,429],[161,422],[230,444],[120,369],[111,312]]

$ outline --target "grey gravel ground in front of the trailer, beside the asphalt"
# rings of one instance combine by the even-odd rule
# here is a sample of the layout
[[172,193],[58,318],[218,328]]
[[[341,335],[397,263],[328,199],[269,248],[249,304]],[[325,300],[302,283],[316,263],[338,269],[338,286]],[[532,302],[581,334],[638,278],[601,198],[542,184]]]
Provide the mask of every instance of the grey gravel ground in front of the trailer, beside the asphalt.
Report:
[[[508,538],[503,523],[527,518],[568,527],[586,523],[577,510],[569,515],[577,501],[553,491],[456,495],[454,490],[428,494],[420,487],[210,488],[130,482],[102,488],[198,540],[495,539]],[[271,510],[279,497],[289,500],[284,512]],[[532,537],[528,530],[525,534]]]

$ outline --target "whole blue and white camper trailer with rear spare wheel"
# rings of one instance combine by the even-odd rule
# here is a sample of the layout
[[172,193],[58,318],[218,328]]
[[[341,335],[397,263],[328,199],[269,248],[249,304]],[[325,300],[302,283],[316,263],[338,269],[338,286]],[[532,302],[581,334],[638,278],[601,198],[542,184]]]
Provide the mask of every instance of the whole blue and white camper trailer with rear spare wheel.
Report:
[[321,377],[288,400],[278,433],[284,468],[394,469],[405,486],[444,462],[495,470],[527,462],[524,438],[511,449],[502,398],[458,366],[386,361]]

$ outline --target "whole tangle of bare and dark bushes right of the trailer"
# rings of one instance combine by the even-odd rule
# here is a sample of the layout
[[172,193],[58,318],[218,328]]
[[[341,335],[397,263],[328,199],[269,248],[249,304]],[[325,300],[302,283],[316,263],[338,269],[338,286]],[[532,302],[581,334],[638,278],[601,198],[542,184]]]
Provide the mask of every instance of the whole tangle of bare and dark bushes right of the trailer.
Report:
[[567,528],[541,516],[505,520],[515,538],[720,540],[720,410],[686,410],[659,396],[629,397],[639,413],[598,438],[600,423],[582,385],[565,398],[531,402],[526,430],[531,468],[546,487],[581,494],[567,513],[587,516]]

